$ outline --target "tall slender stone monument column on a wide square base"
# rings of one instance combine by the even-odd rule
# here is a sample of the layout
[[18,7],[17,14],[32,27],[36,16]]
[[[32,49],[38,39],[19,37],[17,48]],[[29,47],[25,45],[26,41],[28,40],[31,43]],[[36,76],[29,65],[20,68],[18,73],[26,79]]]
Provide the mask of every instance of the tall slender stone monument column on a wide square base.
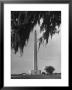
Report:
[[38,70],[37,62],[37,32],[34,32],[34,70],[31,71],[32,75],[40,75],[41,70]]

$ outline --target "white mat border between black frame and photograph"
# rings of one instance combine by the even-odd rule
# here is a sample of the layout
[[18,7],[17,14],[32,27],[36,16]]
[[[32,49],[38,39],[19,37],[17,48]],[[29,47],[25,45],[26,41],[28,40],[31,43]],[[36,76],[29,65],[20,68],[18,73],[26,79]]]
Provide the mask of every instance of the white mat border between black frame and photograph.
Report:
[[[10,11],[61,11],[62,79],[10,79],[11,13]],[[69,4],[4,4],[4,86],[68,86]]]

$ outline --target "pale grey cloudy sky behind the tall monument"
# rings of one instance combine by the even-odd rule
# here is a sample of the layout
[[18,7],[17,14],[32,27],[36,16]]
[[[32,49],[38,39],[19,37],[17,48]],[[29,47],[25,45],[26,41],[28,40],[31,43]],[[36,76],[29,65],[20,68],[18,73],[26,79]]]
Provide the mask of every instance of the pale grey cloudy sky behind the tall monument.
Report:
[[[36,25],[37,38],[40,37],[39,26]],[[11,50],[11,74],[30,73],[34,69],[34,30],[30,33],[29,42],[24,47],[23,55],[18,51],[14,54]],[[61,33],[49,38],[47,45],[42,44],[37,53],[38,69],[45,71],[45,66],[53,66],[56,73],[61,72]]]

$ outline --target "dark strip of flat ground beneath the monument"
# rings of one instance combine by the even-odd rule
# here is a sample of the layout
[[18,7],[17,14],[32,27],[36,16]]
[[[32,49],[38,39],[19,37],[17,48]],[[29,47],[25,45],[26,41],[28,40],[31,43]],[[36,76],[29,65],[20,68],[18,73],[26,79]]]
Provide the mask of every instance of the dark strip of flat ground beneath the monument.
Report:
[[11,75],[11,79],[61,79],[61,74],[52,75]]

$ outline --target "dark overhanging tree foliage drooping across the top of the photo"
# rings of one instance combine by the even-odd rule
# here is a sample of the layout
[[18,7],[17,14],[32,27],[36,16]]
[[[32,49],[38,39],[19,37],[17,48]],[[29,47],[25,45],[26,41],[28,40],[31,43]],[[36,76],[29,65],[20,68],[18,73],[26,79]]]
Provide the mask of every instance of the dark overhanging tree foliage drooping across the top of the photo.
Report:
[[[11,11],[11,48],[15,53],[20,49],[23,53],[23,48],[27,45],[30,32],[34,26],[40,24],[40,19],[43,23],[40,26],[40,31],[45,29],[43,39],[48,43],[49,36],[58,33],[56,26],[61,24],[61,11]],[[39,39],[42,43],[42,38]]]

